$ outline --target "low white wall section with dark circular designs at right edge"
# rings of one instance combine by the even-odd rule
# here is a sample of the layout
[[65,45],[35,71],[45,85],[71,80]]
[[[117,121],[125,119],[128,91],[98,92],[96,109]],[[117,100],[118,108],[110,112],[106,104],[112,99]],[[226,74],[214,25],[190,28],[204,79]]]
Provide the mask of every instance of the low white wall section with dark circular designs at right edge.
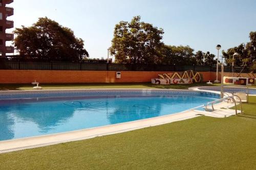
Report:
[[256,79],[239,78],[239,77],[224,77],[223,83],[224,84],[233,84],[233,85],[251,86],[251,85],[256,85]]

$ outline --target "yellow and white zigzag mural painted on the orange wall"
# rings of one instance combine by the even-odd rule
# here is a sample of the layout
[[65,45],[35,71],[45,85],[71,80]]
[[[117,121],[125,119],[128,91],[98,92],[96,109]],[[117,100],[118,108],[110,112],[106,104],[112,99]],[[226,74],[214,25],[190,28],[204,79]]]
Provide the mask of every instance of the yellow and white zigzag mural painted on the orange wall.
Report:
[[153,84],[191,84],[203,81],[203,76],[199,72],[187,70],[183,72],[173,72],[158,75],[158,78],[152,79]]

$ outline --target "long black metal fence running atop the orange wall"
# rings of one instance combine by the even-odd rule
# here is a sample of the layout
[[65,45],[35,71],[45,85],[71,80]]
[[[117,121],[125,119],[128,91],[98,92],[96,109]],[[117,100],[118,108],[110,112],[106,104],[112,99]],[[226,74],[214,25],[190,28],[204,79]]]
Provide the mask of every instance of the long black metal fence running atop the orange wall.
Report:
[[[145,64],[107,64],[107,63],[68,63],[68,62],[23,62],[2,61],[0,69],[20,70],[109,70],[109,71],[216,71],[211,65],[145,65]],[[219,66],[221,70],[221,66]],[[234,72],[240,72],[242,67],[234,67]],[[224,67],[225,72],[232,72],[231,66]],[[245,68],[243,72],[250,72]]]

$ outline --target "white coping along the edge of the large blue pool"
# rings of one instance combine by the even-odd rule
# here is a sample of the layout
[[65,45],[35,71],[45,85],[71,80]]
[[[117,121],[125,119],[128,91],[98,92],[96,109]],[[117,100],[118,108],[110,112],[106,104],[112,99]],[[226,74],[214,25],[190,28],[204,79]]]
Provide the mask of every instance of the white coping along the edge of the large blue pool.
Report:
[[[68,90],[71,90],[71,89],[68,89]],[[97,89],[97,90],[100,90],[100,89]],[[141,89],[141,90],[157,90],[157,89]],[[159,90],[163,90],[163,89],[159,89]],[[166,90],[175,90],[175,89],[166,89]],[[179,89],[179,90],[182,91],[182,89]],[[184,91],[190,91],[190,90],[184,90]],[[196,90],[196,91],[203,91],[203,90]],[[207,91],[207,92],[219,93],[217,91]],[[151,126],[158,126],[158,125],[168,124],[172,122],[177,122],[180,120],[194,118],[202,114],[207,116],[212,116],[212,117],[219,117],[218,115],[219,114],[222,115],[222,112],[215,113],[216,115],[210,115],[210,114],[208,115],[208,114],[204,114],[204,111],[186,110],[180,113],[135,120],[133,122],[126,122],[121,124],[114,124],[114,125],[108,125],[108,126],[102,126],[102,127],[96,127],[96,128],[90,128],[90,129],[82,129],[82,130],[28,137],[28,138],[4,140],[4,141],[0,141],[0,154],[24,150],[24,149],[44,147],[47,145],[53,145],[53,144],[64,143],[64,142],[84,140],[84,139],[89,139],[89,138],[98,137],[98,136],[128,132],[128,131],[147,128]],[[229,112],[226,112],[226,113],[225,112],[223,112],[223,115],[225,116],[234,114],[234,110],[230,110]]]

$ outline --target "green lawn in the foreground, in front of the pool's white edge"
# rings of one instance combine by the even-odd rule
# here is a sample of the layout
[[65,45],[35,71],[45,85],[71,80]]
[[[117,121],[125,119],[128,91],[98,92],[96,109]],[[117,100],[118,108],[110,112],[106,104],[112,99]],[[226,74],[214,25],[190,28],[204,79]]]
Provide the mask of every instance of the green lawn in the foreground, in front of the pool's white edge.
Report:
[[256,169],[256,97],[244,114],[200,116],[0,155],[0,169]]

